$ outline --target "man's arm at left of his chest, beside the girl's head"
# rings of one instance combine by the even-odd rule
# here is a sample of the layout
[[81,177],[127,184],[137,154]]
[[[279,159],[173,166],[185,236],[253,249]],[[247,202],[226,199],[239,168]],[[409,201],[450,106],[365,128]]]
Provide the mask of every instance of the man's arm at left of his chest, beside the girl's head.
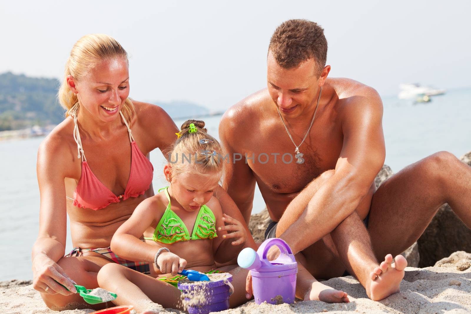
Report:
[[[224,165],[223,187],[239,208],[245,223],[248,225],[252,213],[256,181],[252,169],[245,163],[245,151],[237,143],[241,140],[241,137],[244,137],[240,133],[247,130],[243,125],[244,120],[241,114],[237,113],[236,107],[229,109],[224,113],[219,123],[219,138],[228,156]],[[225,204],[221,202],[221,205],[224,210]],[[224,212],[226,211],[224,210]],[[232,216],[229,213],[227,214]],[[238,219],[238,217],[232,217]]]

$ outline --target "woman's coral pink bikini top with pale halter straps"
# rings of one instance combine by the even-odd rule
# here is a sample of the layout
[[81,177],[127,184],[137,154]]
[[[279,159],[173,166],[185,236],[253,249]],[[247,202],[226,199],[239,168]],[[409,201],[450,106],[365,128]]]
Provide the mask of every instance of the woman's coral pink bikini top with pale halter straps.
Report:
[[124,194],[116,196],[111,192],[91,171],[87,159],[85,158],[82,143],[77,124],[76,110],[72,113],[75,127],[73,129],[73,137],[77,142],[78,158],[82,158],[82,173],[73,192],[73,205],[79,208],[90,208],[94,210],[102,209],[111,203],[125,201],[130,197],[138,197],[144,194],[152,183],[154,177],[154,167],[152,163],[144,156],[132,137],[131,129],[128,122],[120,112],[122,120],[129,132],[129,140],[131,142],[131,170],[129,174],[128,184],[124,190]]

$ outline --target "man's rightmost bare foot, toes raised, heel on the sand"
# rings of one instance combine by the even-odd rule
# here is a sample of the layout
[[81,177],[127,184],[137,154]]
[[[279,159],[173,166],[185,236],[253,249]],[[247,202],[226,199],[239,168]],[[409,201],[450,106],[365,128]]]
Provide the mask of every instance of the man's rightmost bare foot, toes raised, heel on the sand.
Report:
[[366,294],[373,301],[382,300],[399,292],[399,285],[404,278],[404,268],[407,266],[407,261],[402,255],[398,255],[394,258],[393,265],[392,262],[392,255],[388,254],[380,266],[370,273],[369,282],[366,284]]

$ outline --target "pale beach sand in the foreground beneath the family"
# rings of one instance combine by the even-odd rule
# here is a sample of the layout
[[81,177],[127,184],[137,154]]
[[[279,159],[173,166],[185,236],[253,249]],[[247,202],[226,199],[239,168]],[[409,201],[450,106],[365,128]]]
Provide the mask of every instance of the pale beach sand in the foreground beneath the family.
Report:
[[[460,267],[463,268],[463,267]],[[401,283],[401,292],[382,301],[375,302],[366,297],[365,290],[353,277],[333,278],[325,284],[346,291],[348,304],[327,304],[320,301],[295,302],[292,305],[261,304],[253,301],[235,309],[222,311],[224,314],[284,314],[284,313],[470,313],[471,312],[471,268],[464,271],[456,265],[444,264],[427,268],[406,268]],[[8,314],[49,314],[39,293],[31,285],[1,288],[0,308]],[[9,286],[13,286],[9,284]],[[92,310],[63,311],[64,314],[90,313]],[[179,311],[174,311],[179,313]],[[164,312],[162,312],[164,313]]]

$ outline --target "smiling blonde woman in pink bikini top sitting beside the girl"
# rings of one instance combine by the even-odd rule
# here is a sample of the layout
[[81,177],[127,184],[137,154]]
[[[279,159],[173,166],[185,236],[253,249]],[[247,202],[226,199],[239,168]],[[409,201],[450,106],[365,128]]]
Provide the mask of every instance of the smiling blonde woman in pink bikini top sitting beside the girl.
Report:
[[[138,204],[154,195],[149,153],[159,148],[168,157],[178,129],[162,108],[128,98],[129,90],[127,53],[116,40],[91,34],[75,43],[58,93],[66,118],[38,151],[41,208],[33,285],[51,308],[83,304],[73,282],[96,288],[97,273],[108,263],[144,273],[153,263],[116,256],[110,241]],[[220,187],[217,197],[225,213],[243,221]],[[66,213],[75,248],[64,257]],[[251,237],[248,245],[254,245]]]

